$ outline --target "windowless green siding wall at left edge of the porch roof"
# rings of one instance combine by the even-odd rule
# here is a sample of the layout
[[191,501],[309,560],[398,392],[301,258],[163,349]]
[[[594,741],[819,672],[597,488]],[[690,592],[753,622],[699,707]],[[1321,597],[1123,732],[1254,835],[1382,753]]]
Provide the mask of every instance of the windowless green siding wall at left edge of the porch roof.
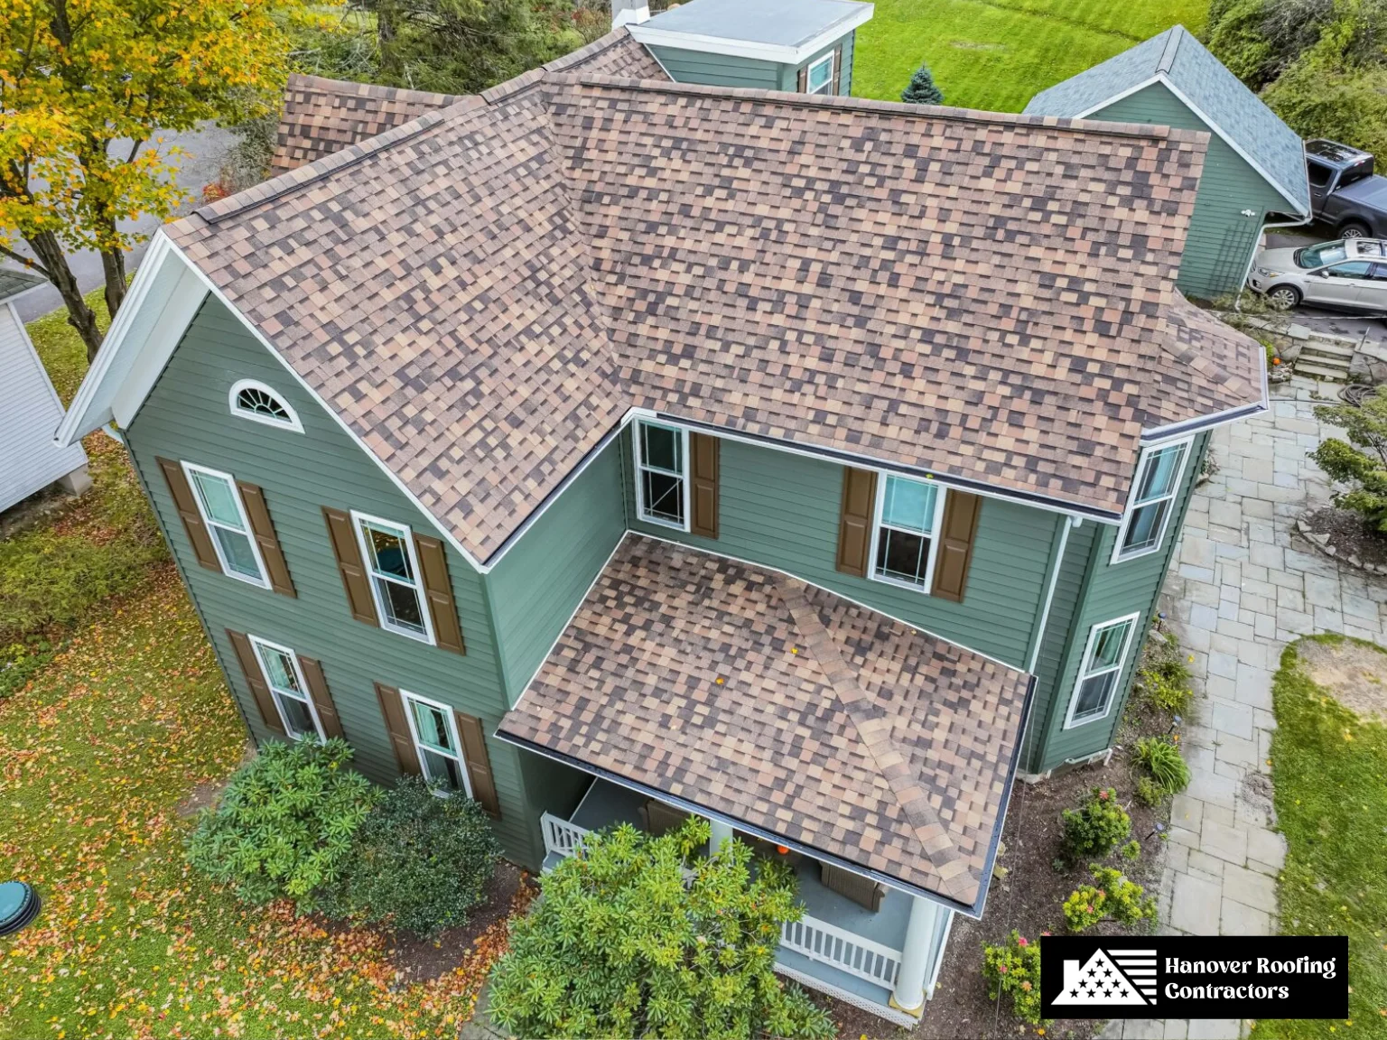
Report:
[[626,532],[620,466],[613,442],[487,575],[512,704]]

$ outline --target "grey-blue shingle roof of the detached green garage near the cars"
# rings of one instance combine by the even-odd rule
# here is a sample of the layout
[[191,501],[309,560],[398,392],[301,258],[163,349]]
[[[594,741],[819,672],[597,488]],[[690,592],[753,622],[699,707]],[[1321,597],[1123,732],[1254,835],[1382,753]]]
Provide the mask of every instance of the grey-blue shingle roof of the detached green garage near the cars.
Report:
[[1309,180],[1300,136],[1183,25],[1042,90],[1031,98],[1025,114],[1082,119],[1157,82],[1241,154],[1297,215],[1309,215]]

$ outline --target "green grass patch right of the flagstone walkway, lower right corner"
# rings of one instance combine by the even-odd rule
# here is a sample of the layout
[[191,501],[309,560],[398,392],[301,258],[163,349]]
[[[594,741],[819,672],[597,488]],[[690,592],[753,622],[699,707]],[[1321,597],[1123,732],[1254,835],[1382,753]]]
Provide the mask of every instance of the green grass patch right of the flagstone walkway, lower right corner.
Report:
[[1300,645],[1282,655],[1272,688],[1272,782],[1289,844],[1277,893],[1282,932],[1348,936],[1350,1019],[1266,1021],[1254,1036],[1387,1037],[1387,727],[1363,721],[1318,686],[1297,656]]

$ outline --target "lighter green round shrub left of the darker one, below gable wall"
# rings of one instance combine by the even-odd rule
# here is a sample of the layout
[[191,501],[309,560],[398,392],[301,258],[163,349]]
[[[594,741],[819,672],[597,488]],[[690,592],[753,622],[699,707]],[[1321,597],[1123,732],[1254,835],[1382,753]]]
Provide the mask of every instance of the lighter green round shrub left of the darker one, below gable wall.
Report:
[[347,768],[350,761],[351,746],[341,739],[262,747],[232,775],[216,808],[203,810],[189,861],[248,903],[287,896],[301,910],[316,908],[379,797],[370,781]]

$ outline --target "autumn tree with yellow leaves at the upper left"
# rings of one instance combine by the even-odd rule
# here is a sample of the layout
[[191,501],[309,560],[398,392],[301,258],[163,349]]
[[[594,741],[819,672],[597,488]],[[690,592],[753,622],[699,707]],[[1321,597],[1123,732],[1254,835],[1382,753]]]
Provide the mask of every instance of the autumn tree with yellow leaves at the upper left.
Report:
[[187,197],[160,135],[269,111],[287,75],[282,26],[301,4],[0,0],[0,255],[57,287],[87,358],[101,333],[68,254],[100,252],[114,315],[141,237],[121,222],[165,220]]

